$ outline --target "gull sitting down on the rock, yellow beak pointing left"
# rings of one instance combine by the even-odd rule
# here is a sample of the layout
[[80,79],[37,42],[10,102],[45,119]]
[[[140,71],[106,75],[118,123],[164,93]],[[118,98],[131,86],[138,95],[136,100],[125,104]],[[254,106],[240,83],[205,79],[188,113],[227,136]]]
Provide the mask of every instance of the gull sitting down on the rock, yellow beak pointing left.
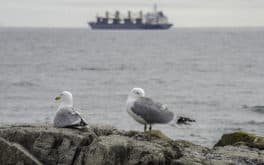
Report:
[[58,111],[54,118],[54,126],[57,128],[86,126],[86,121],[80,113],[73,108],[71,92],[63,91],[55,100],[61,100]]

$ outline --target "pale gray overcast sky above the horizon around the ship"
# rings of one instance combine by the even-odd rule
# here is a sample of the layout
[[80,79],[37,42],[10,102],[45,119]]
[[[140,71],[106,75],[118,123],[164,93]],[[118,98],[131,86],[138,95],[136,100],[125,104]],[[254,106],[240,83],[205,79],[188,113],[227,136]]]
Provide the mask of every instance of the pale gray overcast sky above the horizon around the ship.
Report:
[[154,3],[175,27],[264,26],[264,0],[0,0],[0,26],[86,27],[96,13]]

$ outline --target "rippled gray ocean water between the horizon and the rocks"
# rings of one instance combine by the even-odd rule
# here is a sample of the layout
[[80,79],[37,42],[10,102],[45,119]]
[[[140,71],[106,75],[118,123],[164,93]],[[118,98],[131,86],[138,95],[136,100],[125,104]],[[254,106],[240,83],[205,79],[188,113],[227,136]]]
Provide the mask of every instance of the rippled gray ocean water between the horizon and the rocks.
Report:
[[154,125],[212,146],[223,133],[264,135],[264,28],[168,31],[0,28],[0,123],[52,123],[54,97],[73,93],[89,123],[143,130],[126,112],[142,87],[189,126]]

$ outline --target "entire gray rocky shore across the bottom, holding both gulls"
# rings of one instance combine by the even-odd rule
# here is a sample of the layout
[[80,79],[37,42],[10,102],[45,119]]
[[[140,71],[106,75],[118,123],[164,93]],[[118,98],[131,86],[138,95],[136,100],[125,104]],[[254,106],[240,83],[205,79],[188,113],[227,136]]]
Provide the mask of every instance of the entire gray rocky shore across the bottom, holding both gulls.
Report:
[[[217,146],[209,149],[171,140],[159,131],[120,131],[98,125],[81,130],[13,125],[0,128],[0,164],[264,164],[264,150],[259,145],[247,145],[241,140],[226,143],[226,137],[224,135]],[[254,141],[260,143],[260,140]]]

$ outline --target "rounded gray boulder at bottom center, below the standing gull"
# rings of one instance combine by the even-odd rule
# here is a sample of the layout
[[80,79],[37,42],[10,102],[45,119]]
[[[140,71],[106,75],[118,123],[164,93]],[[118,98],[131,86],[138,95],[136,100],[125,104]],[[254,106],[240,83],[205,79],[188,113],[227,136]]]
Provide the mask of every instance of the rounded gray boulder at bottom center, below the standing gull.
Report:
[[[137,141],[119,135],[101,136],[98,141],[82,150],[87,164],[165,164],[169,149],[147,141]],[[87,154],[88,153],[88,154]]]

